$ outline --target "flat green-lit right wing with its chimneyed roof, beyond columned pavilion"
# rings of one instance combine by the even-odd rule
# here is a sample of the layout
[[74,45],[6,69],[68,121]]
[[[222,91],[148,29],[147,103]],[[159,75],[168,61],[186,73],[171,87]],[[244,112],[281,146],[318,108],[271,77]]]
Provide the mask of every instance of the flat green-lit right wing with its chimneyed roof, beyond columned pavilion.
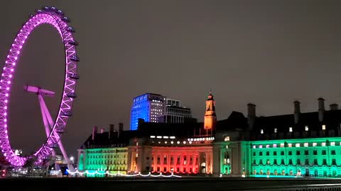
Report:
[[[254,115],[254,113],[251,113]],[[251,175],[341,176],[341,110],[301,113],[294,102],[292,115],[257,117],[250,132]]]

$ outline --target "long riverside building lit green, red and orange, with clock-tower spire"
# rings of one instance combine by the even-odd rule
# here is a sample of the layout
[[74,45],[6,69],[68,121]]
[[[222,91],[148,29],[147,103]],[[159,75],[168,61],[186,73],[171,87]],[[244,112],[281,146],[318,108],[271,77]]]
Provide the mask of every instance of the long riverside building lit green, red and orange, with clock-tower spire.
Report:
[[[156,123],[139,120],[136,131],[94,131],[79,153],[81,171],[131,174],[176,173],[230,177],[340,177],[341,110],[257,117],[233,111],[217,120],[215,100],[206,100],[204,122]],[[97,175],[99,176],[99,175]]]

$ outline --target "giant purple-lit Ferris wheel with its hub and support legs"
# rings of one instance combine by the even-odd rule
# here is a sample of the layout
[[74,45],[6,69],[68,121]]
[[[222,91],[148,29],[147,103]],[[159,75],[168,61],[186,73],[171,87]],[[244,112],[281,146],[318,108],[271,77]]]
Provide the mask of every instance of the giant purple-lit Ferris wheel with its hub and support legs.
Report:
[[[40,149],[38,149],[38,151],[36,151],[36,153],[33,154],[33,156],[31,156],[31,158],[34,158],[36,165],[42,165],[51,153],[54,154],[53,149],[58,145],[60,150],[62,150],[63,155],[65,153],[60,138],[65,131],[67,119],[72,115],[72,102],[74,98],[76,98],[75,88],[77,79],[79,79],[77,74],[77,62],[80,61],[77,57],[76,51],[78,43],[74,40],[72,35],[75,30],[68,25],[69,22],[69,18],[64,16],[63,11],[60,11],[53,6],[45,6],[43,9],[37,10],[36,13],[32,15],[28,21],[26,21],[21,30],[18,31],[16,39],[13,41],[9,54],[6,57],[6,62],[4,64],[0,80],[0,147],[2,153],[6,157],[6,160],[9,161],[12,166],[24,166],[26,161],[28,161],[28,158],[16,155],[9,142],[8,105],[11,97],[11,81],[15,74],[16,65],[18,64],[18,58],[23,44],[26,42],[26,39],[31,32],[36,27],[43,24],[53,25],[53,27],[58,30],[60,37],[62,37],[65,47],[65,77],[63,95],[60,101],[58,115],[55,120],[52,120],[50,117],[50,113],[46,106],[44,106],[45,103],[43,102],[42,97],[53,96],[54,93],[51,91],[41,90],[37,87],[26,86],[26,91],[31,91],[38,95],[47,134],[45,143],[40,147]],[[68,158],[66,158],[66,160],[68,160]]]

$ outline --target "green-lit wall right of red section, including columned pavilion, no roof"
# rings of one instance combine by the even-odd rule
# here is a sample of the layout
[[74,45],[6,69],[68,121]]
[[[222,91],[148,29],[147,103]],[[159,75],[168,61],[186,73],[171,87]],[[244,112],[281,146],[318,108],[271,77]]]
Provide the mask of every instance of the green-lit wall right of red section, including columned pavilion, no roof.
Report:
[[222,175],[341,177],[341,137],[220,141],[214,148]]

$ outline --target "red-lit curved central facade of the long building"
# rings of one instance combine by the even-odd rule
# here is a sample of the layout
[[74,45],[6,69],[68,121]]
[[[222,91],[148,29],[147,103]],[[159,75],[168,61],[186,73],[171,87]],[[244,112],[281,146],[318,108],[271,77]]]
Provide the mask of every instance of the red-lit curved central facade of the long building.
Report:
[[163,141],[163,144],[158,146],[129,147],[131,157],[128,170],[152,173],[212,173],[211,141],[204,144],[194,141],[190,146],[185,146],[185,141],[178,146],[170,146],[164,142],[168,141]]

